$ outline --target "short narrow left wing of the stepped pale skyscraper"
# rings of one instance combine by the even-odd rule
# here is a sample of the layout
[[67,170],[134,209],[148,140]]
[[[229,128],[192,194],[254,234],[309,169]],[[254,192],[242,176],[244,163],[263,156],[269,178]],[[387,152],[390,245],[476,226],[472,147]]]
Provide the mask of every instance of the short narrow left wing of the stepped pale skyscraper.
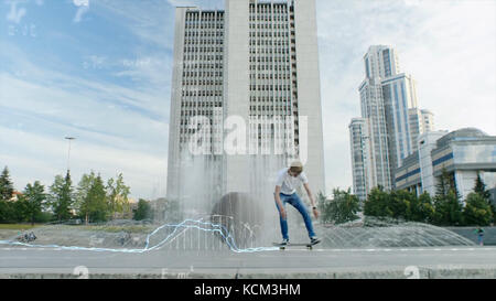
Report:
[[353,118],[348,128],[352,150],[353,193],[360,201],[365,201],[371,189],[368,183],[370,169],[367,165],[367,155],[370,146],[367,136],[367,122],[364,118]]

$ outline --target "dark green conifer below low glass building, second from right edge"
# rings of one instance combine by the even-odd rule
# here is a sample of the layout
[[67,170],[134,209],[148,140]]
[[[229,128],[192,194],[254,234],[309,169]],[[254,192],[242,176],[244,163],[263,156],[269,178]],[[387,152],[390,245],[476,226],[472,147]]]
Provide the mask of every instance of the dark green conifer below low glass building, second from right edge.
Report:
[[463,224],[463,206],[453,191],[434,197],[434,224],[460,226]]

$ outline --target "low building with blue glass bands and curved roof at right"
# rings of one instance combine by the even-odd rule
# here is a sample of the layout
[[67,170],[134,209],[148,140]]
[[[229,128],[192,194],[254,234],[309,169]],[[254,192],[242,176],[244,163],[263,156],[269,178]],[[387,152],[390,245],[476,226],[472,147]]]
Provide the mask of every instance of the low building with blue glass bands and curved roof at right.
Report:
[[443,170],[454,176],[462,200],[473,192],[477,174],[487,190],[496,187],[496,137],[473,128],[421,136],[419,152],[396,170],[396,187],[435,195]]

